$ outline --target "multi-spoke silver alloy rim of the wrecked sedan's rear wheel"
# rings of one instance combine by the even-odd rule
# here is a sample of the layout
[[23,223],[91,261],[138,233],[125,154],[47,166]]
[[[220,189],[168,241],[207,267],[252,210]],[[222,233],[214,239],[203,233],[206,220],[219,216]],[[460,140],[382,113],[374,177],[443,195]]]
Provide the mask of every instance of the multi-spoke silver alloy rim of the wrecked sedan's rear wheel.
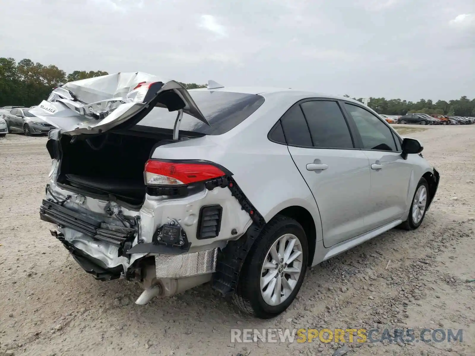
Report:
[[303,251],[294,234],[280,236],[262,265],[260,289],[268,305],[279,305],[294,291],[302,271]]

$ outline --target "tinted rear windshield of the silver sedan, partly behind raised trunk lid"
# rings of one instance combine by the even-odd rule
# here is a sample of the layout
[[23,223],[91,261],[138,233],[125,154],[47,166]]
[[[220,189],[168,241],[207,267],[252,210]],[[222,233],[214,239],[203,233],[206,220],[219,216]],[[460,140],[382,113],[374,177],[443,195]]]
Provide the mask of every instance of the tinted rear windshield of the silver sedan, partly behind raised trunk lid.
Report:
[[[221,135],[247,119],[264,103],[264,97],[255,94],[243,94],[220,91],[190,91],[190,95],[211,127],[191,115],[183,114],[180,131],[191,131],[206,135]],[[163,108],[152,111],[137,123],[140,126],[173,130],[177,112]]]

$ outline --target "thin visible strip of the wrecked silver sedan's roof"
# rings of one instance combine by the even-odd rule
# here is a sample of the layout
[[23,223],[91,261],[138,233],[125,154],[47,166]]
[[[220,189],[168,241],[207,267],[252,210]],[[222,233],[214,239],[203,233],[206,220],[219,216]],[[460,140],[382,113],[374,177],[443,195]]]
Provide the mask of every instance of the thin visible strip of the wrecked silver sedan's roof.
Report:
[[[261,86],[231,86],[215,89],[190,89],[189,92],[194,91],[220,91],[220,92],[230,92],[230,93],[242,93],[242,94],[252,94],[252,95],[262,95],[264,97],[274,96],[274,95],[285,95],[295,97],[297,100],[306,99],[306,98],[326,98],[326,99],[336,99],[336,100],[345,100],[352,103],[362,104],[357,100],[347,98],[346,96],[333,95],[333,94],[324,94],[311,91],[301,91],[292,88],[274,88],[274,87],[261,87]],[[299,99],[300,97],[300,99]]]

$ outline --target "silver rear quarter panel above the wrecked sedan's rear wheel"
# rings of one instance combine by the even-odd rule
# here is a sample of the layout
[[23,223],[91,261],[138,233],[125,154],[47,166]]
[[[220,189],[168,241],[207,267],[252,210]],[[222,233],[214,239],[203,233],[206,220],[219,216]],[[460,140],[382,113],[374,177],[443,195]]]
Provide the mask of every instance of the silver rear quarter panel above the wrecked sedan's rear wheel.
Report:
[[[275,98],[279,99],[279,98]],[[204,159],[233,173],[238,186],[266,222],[289,206],[302,206],[314,219],[317,241],[322,239],[315,199],[295,167],[287,146],[271,142],[267,133],[301,96],[268,100],[233,130],[158,147],[152,158]]]

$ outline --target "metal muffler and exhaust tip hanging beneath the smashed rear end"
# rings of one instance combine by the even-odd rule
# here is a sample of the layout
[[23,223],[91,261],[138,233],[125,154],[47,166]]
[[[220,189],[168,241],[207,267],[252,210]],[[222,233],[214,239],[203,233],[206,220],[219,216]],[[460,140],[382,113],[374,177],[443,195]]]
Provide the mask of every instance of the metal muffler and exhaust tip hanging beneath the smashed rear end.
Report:
[[181,293],[185,290],[189,290],[200,284],[211,281],[212,273],[200,274],[198,276],[186,277],[186,278],[163,278],[157,280],[153,285],[142,292],[139,298],[135,300],[135,304],[145,305],[154,297],[171,297],[177,293]]

